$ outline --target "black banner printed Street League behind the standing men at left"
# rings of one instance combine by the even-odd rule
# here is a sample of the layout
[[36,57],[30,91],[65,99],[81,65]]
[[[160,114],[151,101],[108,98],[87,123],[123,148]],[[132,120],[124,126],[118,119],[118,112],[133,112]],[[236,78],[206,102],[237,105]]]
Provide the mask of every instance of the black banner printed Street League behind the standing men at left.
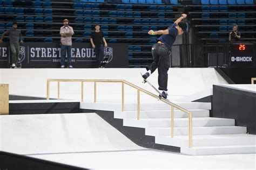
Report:
[[[22,68],[60,68],[60,43],[24,42],[20,45],[18,63]],[[109,58],[106,68],[128,67],[128,45],[108,44],[104,56]],[[72,66],[74,68],[95,68],[96,56],[90,43],[73,43]],[[11,52],[9,42],[0,44],[0,68],[9,68]]]

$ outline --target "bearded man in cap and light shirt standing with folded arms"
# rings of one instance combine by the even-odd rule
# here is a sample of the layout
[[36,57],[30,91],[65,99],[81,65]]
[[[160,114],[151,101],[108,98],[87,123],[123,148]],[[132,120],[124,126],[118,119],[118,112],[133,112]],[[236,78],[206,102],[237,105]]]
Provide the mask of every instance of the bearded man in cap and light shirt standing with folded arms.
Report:
[[71,48],[72,48],[72,36],[74,34],[73,28],[69,26],[69,20],[64,19],[63,20],[63,26],[60,27],[59,34],[61,36],[60,42],[61,42],[61,55],[62,58],[60,60],[61,67],[65,68],[65,58],[66,53],[68,55],[68,68],[73,68],[71,65]]

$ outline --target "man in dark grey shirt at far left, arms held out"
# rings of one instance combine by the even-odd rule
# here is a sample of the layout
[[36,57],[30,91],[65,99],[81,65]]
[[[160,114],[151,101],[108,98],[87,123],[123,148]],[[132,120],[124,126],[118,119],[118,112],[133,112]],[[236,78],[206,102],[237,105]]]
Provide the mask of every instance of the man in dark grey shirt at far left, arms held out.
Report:
[[[12,29],[5,31],[2,35],[0,43],[3,43],[3,38],[5,34],[9,34],[10,39],[10,48],[11,48],[11,59],[12,65],[11,67],[16,67],[18,65],[18,57],[19,57],[19,43],[23,43],[21,30],[17,29],[18,24],[16,22],[12,23]],[[19,41],[19,39],[21,41]]]

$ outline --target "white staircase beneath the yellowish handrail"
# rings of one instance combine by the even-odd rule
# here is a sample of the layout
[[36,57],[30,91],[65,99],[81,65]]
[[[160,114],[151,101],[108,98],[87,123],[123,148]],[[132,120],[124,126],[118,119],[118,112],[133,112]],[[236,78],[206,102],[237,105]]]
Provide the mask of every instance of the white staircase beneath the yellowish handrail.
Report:
[[100,107],[100,103],[82,103],[81,106],[90,109],[98,104],[100,110],[113,110],[114,118],[123,119],[124,126],[145,128],[145,134],[154,136],[156,144],[180,147],[183,154],[256,153],[256,135],[247,134],[246,127],[235,126],[234,119],[209,117],[211,103],[174,103],[192,111],[192,148],[188,148],[188,116],[179,110],[174,110],[174,137],[171,138],[171,109],[167,104],[141,104],[140,120],[137,120],[136,104],[125,105],[124,112],[117,104]]

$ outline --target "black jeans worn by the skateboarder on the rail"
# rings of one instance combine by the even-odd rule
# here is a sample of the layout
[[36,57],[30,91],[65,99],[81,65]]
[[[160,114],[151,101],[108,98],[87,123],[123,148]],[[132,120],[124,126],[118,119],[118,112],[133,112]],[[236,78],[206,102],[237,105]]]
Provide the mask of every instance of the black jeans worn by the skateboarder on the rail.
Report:
[[154,61],[146,69],[151,70],[151,74],[158,69],[158,89],[167,91],[171,52],[166,45],[157,43],[152,47],[152,55]]

